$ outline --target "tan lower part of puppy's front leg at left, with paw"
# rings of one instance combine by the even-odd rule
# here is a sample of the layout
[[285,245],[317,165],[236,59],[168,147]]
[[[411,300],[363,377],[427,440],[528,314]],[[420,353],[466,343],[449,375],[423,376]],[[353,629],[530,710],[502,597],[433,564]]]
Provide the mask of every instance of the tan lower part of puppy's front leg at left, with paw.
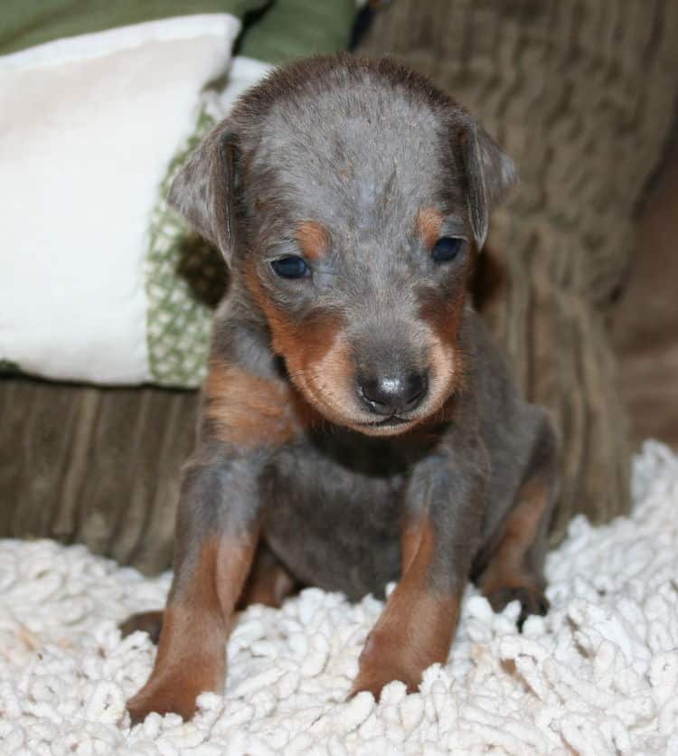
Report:
[[133,723],[150,712],[190,719],[198,695],[221,692],[231,617],[255,545],[250,537],[213,539],[202,546],[195,564],[185,565],[191,574],[170,596],[153,672],[127,704]]

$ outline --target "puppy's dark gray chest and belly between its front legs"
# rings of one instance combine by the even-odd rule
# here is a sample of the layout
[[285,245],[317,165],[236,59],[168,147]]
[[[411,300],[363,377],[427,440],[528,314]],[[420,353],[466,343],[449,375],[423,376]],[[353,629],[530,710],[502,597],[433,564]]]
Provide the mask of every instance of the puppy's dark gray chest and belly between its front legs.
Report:
[[358,598],[400,573],[406,476],[364,449],[299,442],[261,480],[264,535],[299,580]]

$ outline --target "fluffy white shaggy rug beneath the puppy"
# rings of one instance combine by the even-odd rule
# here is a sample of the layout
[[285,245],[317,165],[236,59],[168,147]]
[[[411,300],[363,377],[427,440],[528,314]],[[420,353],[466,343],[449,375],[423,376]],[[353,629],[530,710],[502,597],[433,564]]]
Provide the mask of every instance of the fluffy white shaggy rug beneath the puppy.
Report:
[[[162,604],[146,580],[82,547],[0,542],[0,754],[678,754],[678,458],[648,443],[630,519],[575,520],[548,562],[551,612],[513,624],[469,589],[447,666],[344,703],[381,603],[311,589],[252,607],[229,642],[224,695],[191,723],[125,699],[146,635],[116,622]],[[426,621],[426,618],[422,618]]]

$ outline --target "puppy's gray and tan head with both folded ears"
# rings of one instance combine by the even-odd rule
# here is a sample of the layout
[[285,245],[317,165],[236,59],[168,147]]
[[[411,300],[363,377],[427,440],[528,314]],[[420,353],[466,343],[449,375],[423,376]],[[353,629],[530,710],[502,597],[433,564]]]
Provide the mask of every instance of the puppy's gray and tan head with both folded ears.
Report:
[[290,379],[369,435],[430,418],[461,384],[466,280],[513,164],[431,82],[317,58],[250,90],[174,181]]

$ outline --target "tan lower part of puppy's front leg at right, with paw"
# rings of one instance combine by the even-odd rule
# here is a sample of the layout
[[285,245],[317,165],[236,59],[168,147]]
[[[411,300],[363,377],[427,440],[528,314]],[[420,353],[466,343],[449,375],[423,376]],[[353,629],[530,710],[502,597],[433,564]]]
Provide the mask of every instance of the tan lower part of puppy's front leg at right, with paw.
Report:
[[428,584],[434,549],[428,519],[405,524],[402,579],[365,643],[352,695],[368,690],[379,698],[392,680],[401,680],[414,692],[424,669],[447,660],[461,596],[438,593]]

